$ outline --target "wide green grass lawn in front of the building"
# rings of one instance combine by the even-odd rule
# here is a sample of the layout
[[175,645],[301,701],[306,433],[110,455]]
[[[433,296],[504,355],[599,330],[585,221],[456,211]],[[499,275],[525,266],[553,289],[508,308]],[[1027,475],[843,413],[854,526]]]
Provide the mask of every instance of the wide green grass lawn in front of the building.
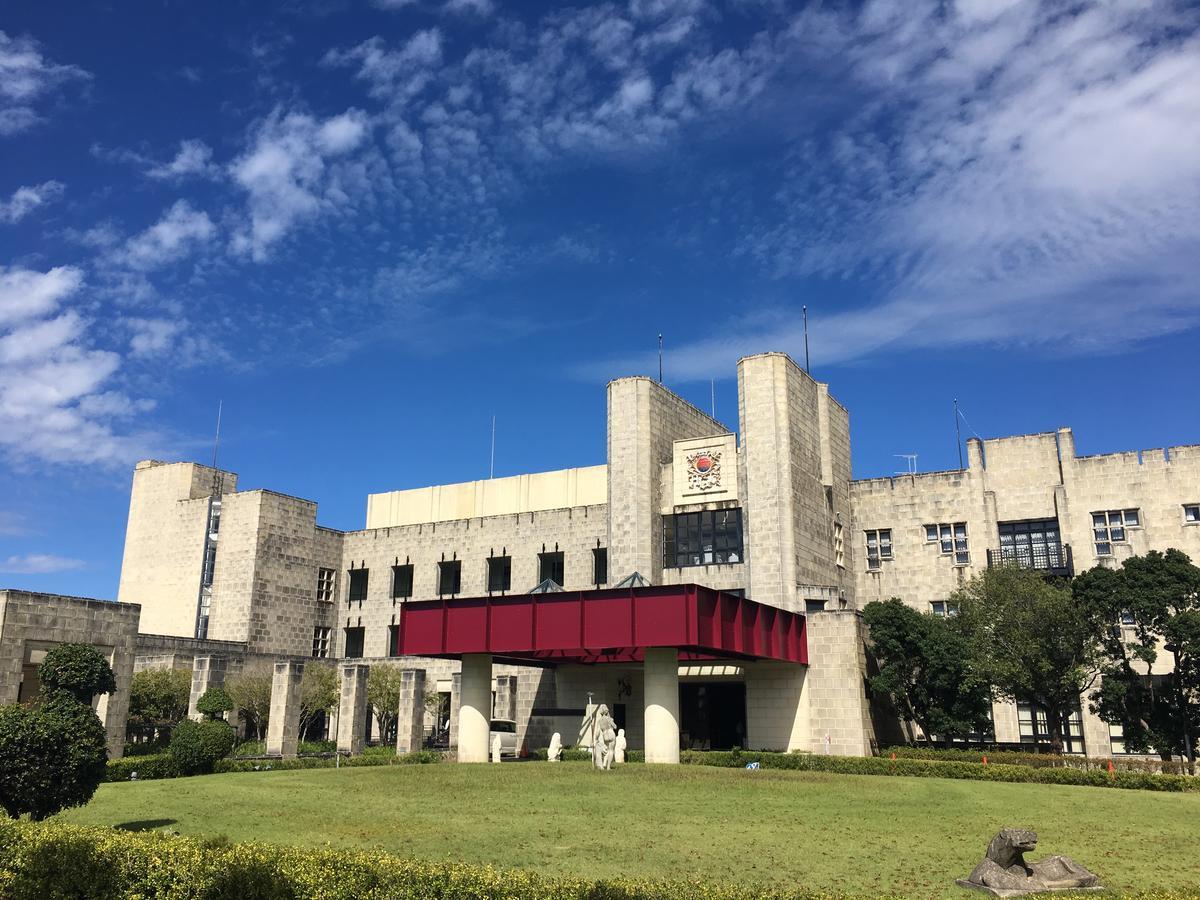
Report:
[[1200,884],[1200,794],[698,766],[400,766],[102,785],[64,818],[589,876],[964,896],[1003,826],[1118,889]]

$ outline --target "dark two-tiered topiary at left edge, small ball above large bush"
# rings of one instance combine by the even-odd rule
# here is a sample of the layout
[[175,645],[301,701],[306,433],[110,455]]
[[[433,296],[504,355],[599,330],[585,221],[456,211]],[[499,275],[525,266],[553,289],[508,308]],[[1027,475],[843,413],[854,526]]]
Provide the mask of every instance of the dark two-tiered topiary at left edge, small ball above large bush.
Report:
[[41,703],[0,707],[0,806],[35,821],[82,806],[103,780],[108,736],[91,698],[115,684],[108,661],[88,644],[52,649],[38,678]]

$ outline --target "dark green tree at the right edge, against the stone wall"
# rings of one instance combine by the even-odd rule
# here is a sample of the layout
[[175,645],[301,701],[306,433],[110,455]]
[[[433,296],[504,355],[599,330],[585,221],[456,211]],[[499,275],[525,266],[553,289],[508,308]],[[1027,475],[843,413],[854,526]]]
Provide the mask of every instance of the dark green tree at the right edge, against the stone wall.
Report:
[[[1126,746],[1170,758],[1182,751],[1195,772],[1200,734],[1200,566],[1178,550],[1130,557],[1118,570],[1075,580],[1075,598],[1105,622],[1104,668],[1092,709],[1121,725]],[[1132,623],[1132,635],[1117,624]],[[1169,676],[1151,674],[1159,653]]]

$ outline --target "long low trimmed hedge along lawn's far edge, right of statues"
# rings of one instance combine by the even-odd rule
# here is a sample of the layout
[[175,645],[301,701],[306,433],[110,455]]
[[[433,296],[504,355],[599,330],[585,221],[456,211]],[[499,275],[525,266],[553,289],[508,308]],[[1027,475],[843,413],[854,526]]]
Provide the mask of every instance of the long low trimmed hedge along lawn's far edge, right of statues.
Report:
[[1102,769],[1084,772],[1070,768],[1040,768],[979,762],[935,762],[932,760],[889,760],[878,756],[817,756],[814,754],[752,752],[749,750],[684,750],[679,761],[690,766],[743,768],[757,762],[763,769],[832,772],[841,775],[906,775],[910,778],[950,778],[970,781],[1008,781],[1037,785],[1085,785],[1123,787],[1138,791],[1200,792],[1200,779],[1188,775],[1152,775],[1147,773]]

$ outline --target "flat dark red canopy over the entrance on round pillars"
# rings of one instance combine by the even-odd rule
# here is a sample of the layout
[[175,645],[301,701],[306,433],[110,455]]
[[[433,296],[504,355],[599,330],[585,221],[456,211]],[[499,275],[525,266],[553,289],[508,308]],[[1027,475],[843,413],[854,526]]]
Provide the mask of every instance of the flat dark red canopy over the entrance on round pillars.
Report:
[[798,613],[698,584],[415,600],[400,607],[395,653],[632,662],[674,647],[680,660],[808,664],[804,626]]

